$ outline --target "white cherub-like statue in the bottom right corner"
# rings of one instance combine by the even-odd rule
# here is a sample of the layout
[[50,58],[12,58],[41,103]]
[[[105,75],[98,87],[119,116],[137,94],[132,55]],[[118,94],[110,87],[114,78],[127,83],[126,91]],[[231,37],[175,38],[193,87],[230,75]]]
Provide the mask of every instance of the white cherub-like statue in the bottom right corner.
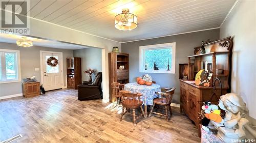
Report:
[[243,139],[246,135],[244,125],[249,121],[245,118],[248,115],[248,109],[242,97],[234,93],[228,93],[221,96],[219,106],[225,110],[226,116],[224,124],[213,122],[213,125],[218,130],[218,137],[224,142]]

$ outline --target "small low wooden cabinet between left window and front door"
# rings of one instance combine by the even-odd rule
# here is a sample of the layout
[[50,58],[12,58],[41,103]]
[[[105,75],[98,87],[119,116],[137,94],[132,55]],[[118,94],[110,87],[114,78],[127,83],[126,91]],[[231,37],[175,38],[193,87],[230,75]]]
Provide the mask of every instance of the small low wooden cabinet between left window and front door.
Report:
[[22,83],[23,96],[34,97],[40,95],[40,82],[24,82]]

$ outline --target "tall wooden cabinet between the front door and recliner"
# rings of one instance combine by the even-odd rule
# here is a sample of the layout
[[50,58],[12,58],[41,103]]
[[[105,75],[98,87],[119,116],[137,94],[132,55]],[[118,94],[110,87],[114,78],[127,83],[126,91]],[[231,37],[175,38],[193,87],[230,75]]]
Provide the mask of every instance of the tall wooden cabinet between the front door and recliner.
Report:
[[82,83],[81,58],[67,58],[67,85],[69,89],[77,89],[77,85]]

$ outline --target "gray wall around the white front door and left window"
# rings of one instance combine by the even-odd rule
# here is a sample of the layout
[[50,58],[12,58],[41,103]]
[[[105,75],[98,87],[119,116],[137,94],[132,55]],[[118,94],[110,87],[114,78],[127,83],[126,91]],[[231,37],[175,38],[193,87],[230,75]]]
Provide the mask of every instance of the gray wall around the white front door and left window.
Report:
[[[34,68],[40,68],[40,50],[58,51],[63,53],[63,78],[64,86],[67,85],[67,65],[66,58],[73,56],[73,50],[56,49],[48,47],[33,46],[22,48],[16,44],[0,43],[1,49],[13,49],[20,51],[20,71],[21,77],[35,75],[38,81],[41,80],[40,71],[34,71]],[[20,82],[0,84],[0,96],[14,95],[22,93]]]

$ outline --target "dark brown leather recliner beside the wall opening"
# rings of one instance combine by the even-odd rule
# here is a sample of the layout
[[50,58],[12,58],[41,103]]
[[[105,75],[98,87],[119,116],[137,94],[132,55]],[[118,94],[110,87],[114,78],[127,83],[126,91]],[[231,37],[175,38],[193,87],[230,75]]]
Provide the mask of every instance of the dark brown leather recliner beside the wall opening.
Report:
[[93,82],[83,81],[78,87],[78,100],[102,99],[102,72],[95,75]]

